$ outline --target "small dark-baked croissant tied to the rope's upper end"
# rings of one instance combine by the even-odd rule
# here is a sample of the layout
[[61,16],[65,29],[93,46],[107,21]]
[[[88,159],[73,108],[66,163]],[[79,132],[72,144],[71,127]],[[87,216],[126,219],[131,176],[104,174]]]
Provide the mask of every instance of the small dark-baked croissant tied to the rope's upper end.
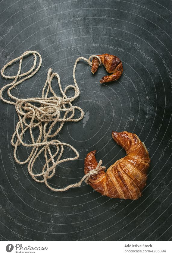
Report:
[[[105,66],[106,71],[108,73],[113,73],[109,76],[104,76],[100,80],[100,83],[107,83],[111,82],[114,80],[118,80],[123,72],[123,66],[121,60],[115,56],[115,55],[110,55],[108,53],[102,54],[102,55],[97,55],[100,57],[102,64]],[[99,67],[99,60],[98,58],[94,57],[92,59],[92,68],[91,72],[94,74]]]

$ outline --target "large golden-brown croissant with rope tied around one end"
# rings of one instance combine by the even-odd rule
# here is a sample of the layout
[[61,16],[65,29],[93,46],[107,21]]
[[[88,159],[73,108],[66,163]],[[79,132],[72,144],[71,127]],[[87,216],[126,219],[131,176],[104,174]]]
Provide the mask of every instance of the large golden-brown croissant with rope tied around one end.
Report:
[[[88,183],[102,195],[111,198],[138,199],[146,185],[149,169],[149,153],[136,134],[112,131],[112,137],[127,155],[117,160],[105,172],[101,170],[89,177]],[[96,150],[87,154],[84,172],[87,174],[98,165]]]

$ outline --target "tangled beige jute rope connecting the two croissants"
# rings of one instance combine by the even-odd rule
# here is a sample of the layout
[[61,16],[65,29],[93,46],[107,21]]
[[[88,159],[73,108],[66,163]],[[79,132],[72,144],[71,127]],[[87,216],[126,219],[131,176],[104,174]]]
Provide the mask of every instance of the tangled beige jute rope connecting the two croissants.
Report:
[[[23,58],[30,54],[32,54],[34,57],[33,66],[30,68],[29,71],[20,74]],[[64,90],[62,90],[59,75],[57,73],[52,73],[52,69],[49,68],[47,79],[42,90],[42,97],[37,97],[37,98],[18,99],[11,94],[11,90],[15,88],[17,85],[23,83],[25,80],[34,76],[36,72],[39,70],[42,64],[42,58],[39,52],[26,51],[21,56],[11,60],[6,65],[4,65],[4,67],[1,70],[2,77],[6,79],[14,79],[10,84],[5,85],[0,90],[0,98],[6,103],[15,105],[15,108],[19,117],[19,121],[16,125],[16,130],[11,139],[11,144],[12,146],[14,146],[14,159],[18,164],[28,163],[28,172],[32,176],[32,178],[36,182],[44,182],[45,185],[48,188],[50,188],[52,191],[66,191],[72,187],[79,187],[84,180],[87,183],[91,175],[94,175],[98,173],[100,169],[105,168],[105,167],[101,167],[102,161],[100,161],[97,168],[87,173],[80,180],[80,182],[69,185],[66,188],[62,188],[62,189],[52,188],[47,182],[48,179],[54,176],[55,169],[58,164],[67,162],[69,160],[76,160],[79,157],[79,153],[74,147],[72,147],[70,144],[62,143],[59,140],[53,139],[53,137],[55,137],[61,131],[65,122],[78,122],[83,118],[83,115],[84,115],[83,109],[81,109],[78,106],[72,105],[72,102],[80,94],[80,90],[75,78],[75,69],[76,69],[77,63],[80,60],[84,60],[90,66],[92,66],[92,62],[90,60],[92,57],[95,57],[95,56],[96,55],[91,55],[89,59],[86,59],[84,57],[77,58],[75,65],[73,67],[74,85],[68,85]],[[102,64],[101,59],[98,56],[96,57],[99,59],[99,65],[101,65]],[[37,64],[37,58],[39,58],[38,64]],[[19,69],[18,69],[17,75],[6,76],[4,74],[5,69],[17,61],[19,61]],[[51,83],[54,77],[56,77],[56,79],[58,80],[58,86],[62,96],[57,96],[54,90],[52,89]],[[68,98],[66,95],[66,92],[69,89],[74,90],[74,96]],[[4,90],[7,90],[9,98],[11,98],[13,101],[5,100],[3,98],[2,94]],[[48,97],[49,92],[51,92],[53,96]],[[80,117],[73,118],[76,109],[80,111]],[[64,113],[63,116],[61,116],[62,113]],[[52,129],[57,123],[60,125],[56,129],[56,131],[53,133]],[[37,139],[35,139],[33,135],[33,130],[35,128],[39,129],[39,136],[37,137]],[[23,141],[24,134],[27,130],[29,130],[30,137],[32,140],[30,144],[27,144],[26,142]],[[17,148],[20,145],[23,145],[25,147],[32,147],[32,151],[25,161],[20,161],[16,155]],[[54,154],[50,149],[50,145],[53,145],[54,147],[56,147],[56,152]],[[69,147],[71,150],[73,150],[76,156],[62,159],[64,146]],[[43,166],[41,173],[34,174],[33,165],[42,152],[44,152],[46,163]]]

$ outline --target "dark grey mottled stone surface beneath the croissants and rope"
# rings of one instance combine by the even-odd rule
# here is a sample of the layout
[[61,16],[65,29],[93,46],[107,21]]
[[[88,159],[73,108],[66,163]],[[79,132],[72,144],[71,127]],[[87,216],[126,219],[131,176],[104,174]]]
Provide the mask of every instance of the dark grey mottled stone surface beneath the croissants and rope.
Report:
[[[125,156],[125,151],[111,139],[111,131],[123,131],[126,125],[127,131],[136,133],[145,142],[151,157],[147,185],[136,201],[102,196],[84,183],[67,192],[52,192],[31,178],[27,164],[14,163],[16,180],[9,153],[13,155],[10,140],[18,117],[13,105],[1,101],[0,239],[170,240],[172,143],[169,148],[166,145],[172,139],[172,87],[162,59],[170,69],[171,1],[4,0],[0,6],[0,36],[13,26],[0,38],[1,68],[27,49],[39,51],[43,58],[38,74],[13,90],[20,98],[41,96],[49,67],[59,73],[63,88],[72,84],[72,69],[79,56],[109,53],[123,62],[126,75],[107,85],[99,83],[107,74],[104,67],[93,75],[86,63],[77,65],[80,96],[74,104],[89,112],[89,120],[84,128],[83,120],[64,125],[61,140],[80,150],[80,158],[58,166],[50,183],[60,188],[80,180],[84,158],[91,150],[97,150],[97,160],[102,159],[106,167]],[[137,51],[134,43],[155,63]],[[25,70],[31,63],[31,57],[25,59]],[[8,72],[15,74],[17,64]],[[0,82],[1,87],[8,83],[2,77]],[[57,81],[53,81],[53,86],[58,92]],[[162,126],[152,143],[159,124]],[[165,147],[167,150],[158,160]],[[26,159],[27,149],[20,149],[19,154],[20,159]],[[67,149],[66,156],[72,156]],[[38,170],[40,163],[35,167]]]

